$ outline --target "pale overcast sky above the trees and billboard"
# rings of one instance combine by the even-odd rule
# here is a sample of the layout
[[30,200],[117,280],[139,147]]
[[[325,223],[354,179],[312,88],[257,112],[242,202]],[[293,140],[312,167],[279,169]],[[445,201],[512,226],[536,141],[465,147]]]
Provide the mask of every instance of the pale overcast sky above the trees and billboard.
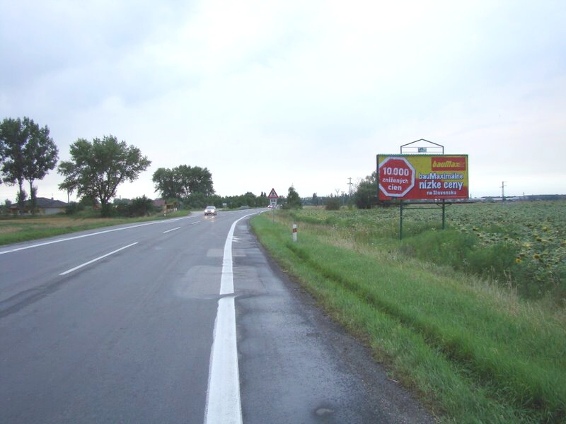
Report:
[[0,119],[49,126],[61,160],[137,146],[127,198],[178,165],[221,196],[347,192],[417,139],[469,155],[471,196],[566,194],[565,22],[564,0],[0,0]]

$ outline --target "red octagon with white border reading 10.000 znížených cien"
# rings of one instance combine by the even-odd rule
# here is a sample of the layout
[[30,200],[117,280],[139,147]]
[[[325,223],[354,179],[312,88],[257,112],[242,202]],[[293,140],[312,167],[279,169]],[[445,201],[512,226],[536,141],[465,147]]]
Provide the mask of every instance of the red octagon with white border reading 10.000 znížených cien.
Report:
[[415,168],[406,158],[390,156],[379,164],[379,189],[390,197],[403,197],[415,187]]

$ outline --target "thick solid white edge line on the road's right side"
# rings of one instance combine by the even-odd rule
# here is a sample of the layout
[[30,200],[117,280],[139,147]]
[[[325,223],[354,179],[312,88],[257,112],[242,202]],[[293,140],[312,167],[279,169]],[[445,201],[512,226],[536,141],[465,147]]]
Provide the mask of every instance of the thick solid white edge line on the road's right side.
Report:
[[232,296],[220,298],[218,301],[210,351],[204,424],[242,424],[236,306],[233,296],[232,241],[236,224],[251,215],[255,213],[248,213],[232,223],[224,244],[220,295]]

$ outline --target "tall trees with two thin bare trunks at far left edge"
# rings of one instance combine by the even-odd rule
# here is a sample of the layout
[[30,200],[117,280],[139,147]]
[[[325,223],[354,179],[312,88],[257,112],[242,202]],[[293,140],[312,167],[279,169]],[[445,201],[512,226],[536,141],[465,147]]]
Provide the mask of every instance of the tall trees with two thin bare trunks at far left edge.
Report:
[[[57,165],[59,151],[49,136],[49,128],[33,119],[4,119],[0,124],[0,157],[4,158],[1,171],[4,181],[18,184],[18,206],[23,210],[23,182],[30,184],[32,212],[35,211],[37,187],[35,180],[43,179]],[[35,187],[35,189],[34,189]]]

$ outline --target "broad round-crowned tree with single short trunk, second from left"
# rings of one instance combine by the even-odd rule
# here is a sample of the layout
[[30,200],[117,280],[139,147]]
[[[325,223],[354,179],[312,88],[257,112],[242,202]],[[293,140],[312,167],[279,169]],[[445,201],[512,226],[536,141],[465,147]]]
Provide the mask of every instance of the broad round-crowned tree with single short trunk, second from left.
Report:
[[98,199],[102,215],[110,216],[110,199],[116,196],[122,182],[133,182],[151,161],[141,155],[139,148],[118,142],[115,136],[78,139],[71,144],[71,160],[59,165],[59,174],[65,177],[59,189]]

